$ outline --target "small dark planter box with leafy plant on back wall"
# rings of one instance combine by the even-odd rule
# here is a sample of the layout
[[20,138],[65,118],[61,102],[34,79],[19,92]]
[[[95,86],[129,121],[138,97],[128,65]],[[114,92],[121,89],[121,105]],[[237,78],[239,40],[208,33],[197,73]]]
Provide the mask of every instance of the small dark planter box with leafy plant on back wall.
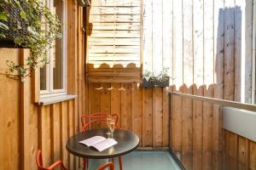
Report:
[[152,71],[144,71],[143,88],[164,88],[169,87],[170,77],[169,68],[164,67],[160,74],[155,75]]

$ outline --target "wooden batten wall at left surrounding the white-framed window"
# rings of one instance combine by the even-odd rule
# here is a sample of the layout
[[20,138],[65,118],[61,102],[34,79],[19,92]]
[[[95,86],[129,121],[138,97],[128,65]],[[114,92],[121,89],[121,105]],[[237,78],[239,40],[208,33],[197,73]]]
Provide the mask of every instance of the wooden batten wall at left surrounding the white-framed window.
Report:
[[79,132],[79,117],[86,105],[84,79],[84,32],[82,8],[67,0],[67,93],[78,95],[52,105],[38,105],[38,72],[19,82],[7,78],[6,59],[26,63],[28,49],[0,48],[0,169],[34,170],[38,149],[44,165],[62,159],[68,169],[80,169],[80,161],[66,150],[66,141]]

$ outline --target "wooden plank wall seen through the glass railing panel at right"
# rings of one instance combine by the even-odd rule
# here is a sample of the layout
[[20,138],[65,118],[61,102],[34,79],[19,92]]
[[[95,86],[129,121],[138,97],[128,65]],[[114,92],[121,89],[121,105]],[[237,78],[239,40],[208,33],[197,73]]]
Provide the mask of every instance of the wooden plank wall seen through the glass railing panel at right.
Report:
[[[255,105],[190,94],[171,95],[170,148],[186,169],[255,169],[256,143],[224,130],[221,110],[224,105],[256,111]],[[192,123],[187,123],[187,117]]]

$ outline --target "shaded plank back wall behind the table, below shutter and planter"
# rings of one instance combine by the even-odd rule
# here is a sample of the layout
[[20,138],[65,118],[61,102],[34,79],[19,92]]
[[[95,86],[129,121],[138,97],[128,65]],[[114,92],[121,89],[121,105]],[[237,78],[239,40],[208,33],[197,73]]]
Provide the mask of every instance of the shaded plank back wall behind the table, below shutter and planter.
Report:
[[119,125],[137,133],[141,147],[168,147],[169,111],[166,88],[137,88],[137,83],[90,83],[86,114],[117,114]]

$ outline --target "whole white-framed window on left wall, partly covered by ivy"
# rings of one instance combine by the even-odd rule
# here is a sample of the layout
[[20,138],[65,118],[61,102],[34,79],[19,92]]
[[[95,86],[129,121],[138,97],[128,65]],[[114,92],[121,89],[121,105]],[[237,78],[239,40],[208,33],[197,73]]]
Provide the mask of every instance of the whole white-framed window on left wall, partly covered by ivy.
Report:
[[[66,94],[66,59],[67,59],[67,4],[65,0],[44,0],[52,13],[56,14],[62,24],[62,38],[56,39],[53,48],[49,48],[49,64],[40,69],[40,94],[41,97]],[[44,20],[43,20],[44,21]],[[44,28],[47,26],[44,25]]]

